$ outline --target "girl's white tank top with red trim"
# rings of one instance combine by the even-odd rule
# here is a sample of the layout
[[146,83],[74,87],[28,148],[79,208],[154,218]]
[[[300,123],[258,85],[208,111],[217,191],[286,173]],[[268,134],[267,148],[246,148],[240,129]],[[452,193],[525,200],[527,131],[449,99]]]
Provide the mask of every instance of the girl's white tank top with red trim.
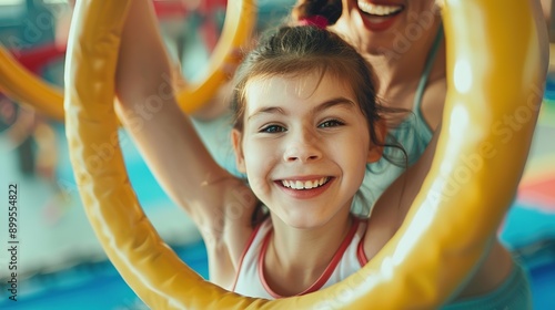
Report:
[[[272,220],[268,218],[259,225],[251,235],[246,248],[239,264],[239,271],[232,291],[254,298],[278,299],[282,296],[272,291],[268,286],[263,259],[272,231]],[[366,231],[366,220],[354,218],[345,239],[336,250],[332,261],[320,278],[301,294],[317,291],[330,287],[359,271],[366,262],[364,255],[363,237]]]

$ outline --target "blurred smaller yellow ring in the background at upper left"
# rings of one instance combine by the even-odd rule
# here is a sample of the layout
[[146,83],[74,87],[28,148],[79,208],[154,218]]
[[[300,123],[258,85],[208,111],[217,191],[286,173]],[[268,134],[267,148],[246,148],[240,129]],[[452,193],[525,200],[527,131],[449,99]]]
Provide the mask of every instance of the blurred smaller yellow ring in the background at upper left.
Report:
[[[120,17],[111,16],[114,19]],[[256,21],[253,0],[229,1],[222,34],[210,59],[204,79],[192,83],[178,93],[178,102],[184,112],[192,113],[212,99],[218,87],[228,80],[221,69],[238,60],[230,51],[243,46],[250,39]],[[0,90],[14,101],[28,104],[53,120],[63,120],[63,94],[44,83],[23,68],[0,44]]]

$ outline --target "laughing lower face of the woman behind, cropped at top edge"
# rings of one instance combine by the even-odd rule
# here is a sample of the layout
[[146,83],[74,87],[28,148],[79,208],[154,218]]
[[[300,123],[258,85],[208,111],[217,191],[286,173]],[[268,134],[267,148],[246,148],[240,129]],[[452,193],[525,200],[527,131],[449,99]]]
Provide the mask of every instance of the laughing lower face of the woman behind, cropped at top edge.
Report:
[[434,37],[441,17],[436,0],[342,0],[334,29],[362,53],[405,53],[425,37]]

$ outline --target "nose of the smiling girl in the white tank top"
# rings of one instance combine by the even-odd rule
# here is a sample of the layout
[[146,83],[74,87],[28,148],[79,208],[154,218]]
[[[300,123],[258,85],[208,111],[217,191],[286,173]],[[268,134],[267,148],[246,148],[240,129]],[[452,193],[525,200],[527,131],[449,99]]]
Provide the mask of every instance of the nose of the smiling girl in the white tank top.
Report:
[[283,159],[285,162],[311,162],[322,157],[320,151],[319,138],[306,131],[299,134],[291,134],[291,140],[287,141]]

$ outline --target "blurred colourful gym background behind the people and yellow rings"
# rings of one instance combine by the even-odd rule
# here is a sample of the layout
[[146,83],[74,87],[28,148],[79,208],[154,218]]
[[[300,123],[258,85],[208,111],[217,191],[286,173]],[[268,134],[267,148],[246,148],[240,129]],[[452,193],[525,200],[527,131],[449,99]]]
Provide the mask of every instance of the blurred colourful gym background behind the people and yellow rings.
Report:
[[[225,0],[153,0],[175,66],[201,79],[225,18]],[[294,0],[259,1],[258,31],[280,23]],[[72,9],[67,0],[0,0],[0,43],[29,71],[63,87]],[[552,46],[552,59],[555,50]],[[535,309],[555,307],[555,61],[533,149],[500,237],[528,267]],[[225,104],[225,102],[223,102]],[[222,106],[224,106],[224,104]],[[223,166],[229,115],[198,117],[195,126]],[[210,115],[210,111],[206,111]],[[20,105],[0,90],[0,309],[147,309],[107,260],[81,207],[63,124]],[[131,183],[164,240],[203,277],[200,235],[165,196],[124,131],[120,141]],[[10,296],[8,186],[19,190],[18,301]]]

